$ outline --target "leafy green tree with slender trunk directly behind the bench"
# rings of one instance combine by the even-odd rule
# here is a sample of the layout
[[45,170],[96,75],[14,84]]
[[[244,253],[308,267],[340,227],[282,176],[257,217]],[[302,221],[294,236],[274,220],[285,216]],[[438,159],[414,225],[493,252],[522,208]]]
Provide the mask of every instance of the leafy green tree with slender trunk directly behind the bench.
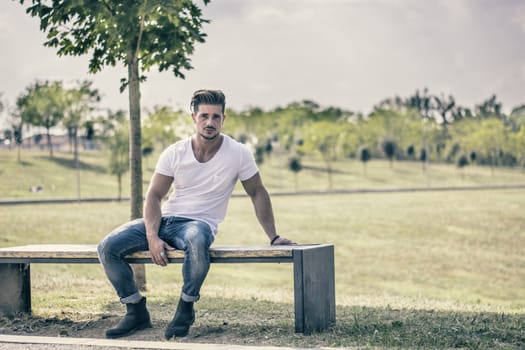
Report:
[[[20,0],[24,4],[25,0]],[[209,0],[203,0],[207,4]],[[58,55],[91,54],[89,70],[97,73],[104,66],[123,63],[127,78],[130,115],[131,218],[142,216],[142,144],[140,117],[140,71],[158,66],[171,69],[184,78],[191,69],[189,55],[195,42],[204,42],[201,9],[190,0],[75,1],[32,0],[27,13],[40,18],[40,29],[47,33],[46,46]]]

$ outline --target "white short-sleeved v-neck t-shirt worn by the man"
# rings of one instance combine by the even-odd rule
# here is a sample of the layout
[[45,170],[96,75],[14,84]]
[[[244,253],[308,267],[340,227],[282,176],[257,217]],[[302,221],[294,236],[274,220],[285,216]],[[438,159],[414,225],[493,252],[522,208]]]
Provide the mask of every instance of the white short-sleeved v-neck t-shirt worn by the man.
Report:
[[155,168],[173,177],[174,191],[162,206],[162,215],[204,221],[216,234],[237,180],[248,180],[258,171],[248,148],[227,135],[206,163],[195,159],[191,138],[178,141],[162,152]]

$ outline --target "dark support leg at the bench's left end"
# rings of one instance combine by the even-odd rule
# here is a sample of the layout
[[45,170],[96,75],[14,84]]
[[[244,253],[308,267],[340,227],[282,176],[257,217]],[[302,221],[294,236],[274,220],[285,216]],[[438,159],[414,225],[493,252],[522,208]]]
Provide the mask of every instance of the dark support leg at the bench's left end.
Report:
[[31,312],[29,264],[0,264],[0,315]]

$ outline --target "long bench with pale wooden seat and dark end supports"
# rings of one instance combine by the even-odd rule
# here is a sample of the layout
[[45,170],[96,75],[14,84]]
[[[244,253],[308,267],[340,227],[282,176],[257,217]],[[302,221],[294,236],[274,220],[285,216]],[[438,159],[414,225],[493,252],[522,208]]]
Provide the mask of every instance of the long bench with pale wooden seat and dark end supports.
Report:
[[[169,251],[181,263],[182,251]],[[332,244],[290,246],[214,246],[212,263],[292,263],[295,332],[310,334],[335,323],[335,271]],[[149,252],[127,257],[130,263],[152,263]],[[96,245],[38,244],[0,248],[0,314],[31,312],[30,264],[98,264]]]

